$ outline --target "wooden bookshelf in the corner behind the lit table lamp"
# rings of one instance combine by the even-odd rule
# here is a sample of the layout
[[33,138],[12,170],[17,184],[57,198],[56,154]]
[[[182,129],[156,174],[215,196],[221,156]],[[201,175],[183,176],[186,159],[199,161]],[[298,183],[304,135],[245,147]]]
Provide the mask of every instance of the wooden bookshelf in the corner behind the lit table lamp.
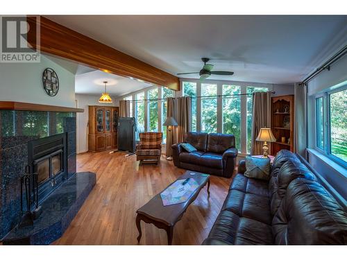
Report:
[[[271,98],[271,131],[276,142],[271,143],[271,155],[294,148],[294,95]],[[285,143],[282,143],[285,137]],[[289,142],[288,142],[289,141]]]

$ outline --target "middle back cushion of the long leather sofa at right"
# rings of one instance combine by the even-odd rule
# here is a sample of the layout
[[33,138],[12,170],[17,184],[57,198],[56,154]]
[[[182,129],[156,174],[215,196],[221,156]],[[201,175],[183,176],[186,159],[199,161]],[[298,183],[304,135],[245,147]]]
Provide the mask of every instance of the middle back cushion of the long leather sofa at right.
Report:
[[298,177],[306,180],[316,180],[314,173],[312,173],[300,161],[292,158],[282,164],[282,167],[278,169],[277,175],[271,177],[271,180],[269,181],[269,191],[272,215],[275,215],[280,207],[280,203],[282,202],[282,198],[285,196],[290,182]]

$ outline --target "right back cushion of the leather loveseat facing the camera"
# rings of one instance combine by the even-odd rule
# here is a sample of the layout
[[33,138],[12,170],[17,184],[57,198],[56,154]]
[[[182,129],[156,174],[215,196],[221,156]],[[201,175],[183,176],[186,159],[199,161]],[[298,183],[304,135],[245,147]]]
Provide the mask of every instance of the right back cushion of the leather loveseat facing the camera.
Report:
[[208,152],[224,153],[228,148],[235,147],[234,135],[226,134],[209,134],[208,135]]

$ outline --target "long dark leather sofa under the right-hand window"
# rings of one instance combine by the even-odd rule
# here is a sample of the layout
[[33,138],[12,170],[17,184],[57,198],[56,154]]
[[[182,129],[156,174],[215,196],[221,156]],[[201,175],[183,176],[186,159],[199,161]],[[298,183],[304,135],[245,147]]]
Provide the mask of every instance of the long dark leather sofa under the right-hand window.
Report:
[[203,245],[346,245],[346,205],[307,167],[302,157],[281,150],[266,182],[245,177],[241,161]]

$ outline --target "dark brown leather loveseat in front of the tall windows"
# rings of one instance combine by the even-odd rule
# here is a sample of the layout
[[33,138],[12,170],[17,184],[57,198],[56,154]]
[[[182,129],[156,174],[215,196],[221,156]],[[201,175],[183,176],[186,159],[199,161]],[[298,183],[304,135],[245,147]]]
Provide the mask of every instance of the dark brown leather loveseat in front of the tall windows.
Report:
[[237,148],[233,135],[187,132],[184,143],[192,144],[197,150],[188,153],[180,144],[172,145],[176,167],[222,177],[234,173]]

